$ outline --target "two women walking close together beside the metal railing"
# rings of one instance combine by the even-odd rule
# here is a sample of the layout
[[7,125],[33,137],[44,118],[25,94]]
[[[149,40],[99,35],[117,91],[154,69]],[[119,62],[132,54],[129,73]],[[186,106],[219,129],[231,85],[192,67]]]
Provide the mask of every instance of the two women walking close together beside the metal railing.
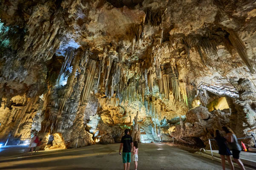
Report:
[[[226,133],[226,136],[222,136],[220,130],[216,130],[215,140],[219,146],[219,154],[221,155],[221,164],[223,170],[225,170],[225,156],[227,157],[231,170],[234,170],[231,155],[239,167],[242,170],[245,170],[244,164],[242,163],[241,159],[239,159],[239,153],[241,152],[242,148],[237,141],[236,135],[229,127],[223,126],[222,130]],[[232,153],[230,150],[232,150]]]

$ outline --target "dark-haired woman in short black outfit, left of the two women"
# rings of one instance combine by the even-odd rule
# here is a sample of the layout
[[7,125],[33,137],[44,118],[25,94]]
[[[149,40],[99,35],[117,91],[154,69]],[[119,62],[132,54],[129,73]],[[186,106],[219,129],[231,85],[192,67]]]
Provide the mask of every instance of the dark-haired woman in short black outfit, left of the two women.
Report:
[[221,136],[221,133],[219,130],[215,130],[215,138],[214,138],[219,146],[219,154],[221,155],[221,165],[222,169],[225,170],[225,156],[227,157],[228,164],[230,165],[230,169],[234,170],[234,165],[232,163],[231,159],[231,152],[229,148],[227,147],[227,141],[226,139]]

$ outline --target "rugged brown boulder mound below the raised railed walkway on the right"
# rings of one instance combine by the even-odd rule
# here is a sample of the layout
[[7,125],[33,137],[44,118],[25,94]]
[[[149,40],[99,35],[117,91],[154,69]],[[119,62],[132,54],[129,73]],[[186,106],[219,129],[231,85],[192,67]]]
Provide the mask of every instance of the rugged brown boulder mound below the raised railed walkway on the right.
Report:
[[[207,108],[201,105],[190,109],[186,117],[184,122],[181,121],[180,125],[176,125],[175,131],[171,135],[181,142],[198,146],[207,145],[207,139],[213,139],[214,131],[221,129],[230,121],[230,113],[219,110],[209,112]],[[204,143],[204,141],[206,142]]]

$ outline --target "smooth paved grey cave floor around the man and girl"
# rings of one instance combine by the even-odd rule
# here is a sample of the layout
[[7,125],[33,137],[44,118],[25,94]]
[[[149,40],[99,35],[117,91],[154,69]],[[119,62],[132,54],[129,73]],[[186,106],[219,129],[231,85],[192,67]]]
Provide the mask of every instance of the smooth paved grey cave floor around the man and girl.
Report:
[[[0,170],[122,170],[120,144],[23,154],[25,147],[0,148]],[[130,170],[134,169],[131,162]],[[221,164],[167,144],[139,144],[138,170],[221,170]]]

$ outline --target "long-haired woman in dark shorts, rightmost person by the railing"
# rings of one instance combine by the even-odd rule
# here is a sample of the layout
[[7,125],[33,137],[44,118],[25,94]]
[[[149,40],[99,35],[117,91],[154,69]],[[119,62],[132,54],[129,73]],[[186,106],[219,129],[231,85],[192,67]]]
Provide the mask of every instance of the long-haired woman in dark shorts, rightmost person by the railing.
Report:
[[227,139],[229,148],[232,150],[233,159],[242,170],[245,170],[243,162],[241,161],[241,159],[239,159],[239,153],[241,152],[242,148],[237,141],[236,135],[229,127],[223,126],[222,129],[227,134],[225,138]]

